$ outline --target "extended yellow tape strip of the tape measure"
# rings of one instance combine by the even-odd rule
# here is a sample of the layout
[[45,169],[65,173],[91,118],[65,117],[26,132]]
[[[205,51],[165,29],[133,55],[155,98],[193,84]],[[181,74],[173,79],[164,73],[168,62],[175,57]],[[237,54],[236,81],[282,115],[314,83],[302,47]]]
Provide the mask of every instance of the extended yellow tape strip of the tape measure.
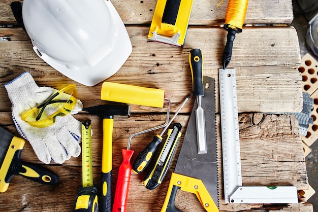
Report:
[[83,187],[93,186],[93,168],[91,162],[91,125],[82,122],[82,183]]

